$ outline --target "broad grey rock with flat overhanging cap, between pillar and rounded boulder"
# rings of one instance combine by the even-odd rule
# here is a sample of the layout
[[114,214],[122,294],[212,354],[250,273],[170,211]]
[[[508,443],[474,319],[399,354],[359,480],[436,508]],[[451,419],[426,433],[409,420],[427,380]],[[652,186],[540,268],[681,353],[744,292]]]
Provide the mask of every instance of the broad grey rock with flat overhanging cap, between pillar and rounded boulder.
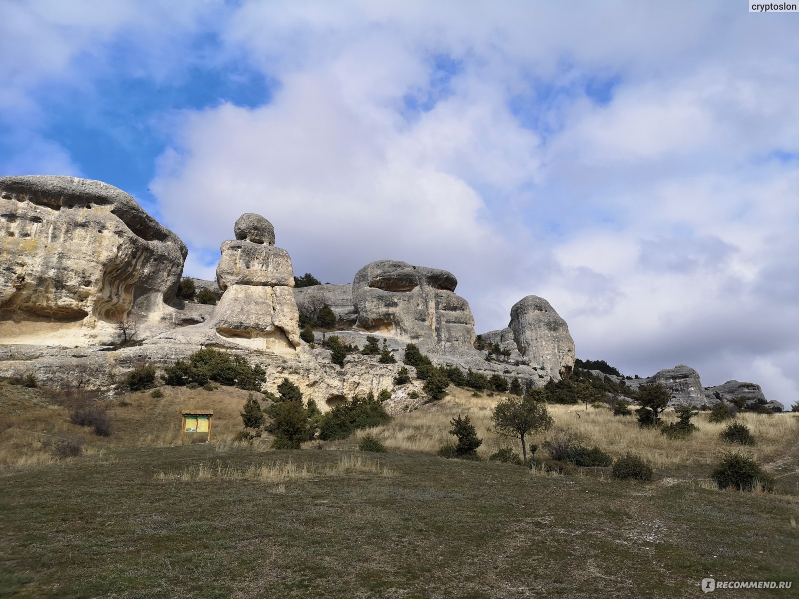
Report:
[[475,319],[451,272],[377,260],[356,273],[356,327],[444,351],[474,351]]

